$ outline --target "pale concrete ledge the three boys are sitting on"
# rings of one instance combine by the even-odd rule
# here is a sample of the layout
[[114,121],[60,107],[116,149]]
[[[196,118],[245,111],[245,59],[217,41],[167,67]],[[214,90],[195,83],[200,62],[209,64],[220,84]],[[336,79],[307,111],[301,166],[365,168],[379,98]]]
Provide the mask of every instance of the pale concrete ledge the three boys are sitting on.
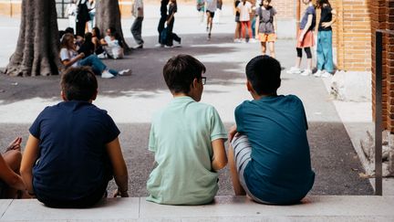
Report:
[[307,196],[295,206],[216,196],[206,206],[163,206],[145,197],[109,198],[88,209],[54,209],[35,199],[0,200],[0,221],[394,221],[394,196]]

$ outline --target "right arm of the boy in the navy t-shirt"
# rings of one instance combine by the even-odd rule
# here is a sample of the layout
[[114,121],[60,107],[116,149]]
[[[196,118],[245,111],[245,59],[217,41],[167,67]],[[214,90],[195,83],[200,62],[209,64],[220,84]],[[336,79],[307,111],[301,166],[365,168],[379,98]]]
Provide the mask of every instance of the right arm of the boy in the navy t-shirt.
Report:
[[112,164],[115,183],[118,185],[118,190],[114,196],[128,197],[129,174],[121,153],[119,138],[117,137],[115,140],[107,143],[106,149]]

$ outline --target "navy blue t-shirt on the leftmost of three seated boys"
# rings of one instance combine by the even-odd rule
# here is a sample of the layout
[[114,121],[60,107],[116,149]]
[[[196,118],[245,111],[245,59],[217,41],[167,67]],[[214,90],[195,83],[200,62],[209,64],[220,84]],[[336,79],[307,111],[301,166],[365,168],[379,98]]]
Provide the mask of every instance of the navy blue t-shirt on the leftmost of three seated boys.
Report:
[[87,101],[63,101],[41,111],[29,131],[39,140],[33,168],[37,196],[77,200],[108,182],[105,144],[119,129],[107,111]]

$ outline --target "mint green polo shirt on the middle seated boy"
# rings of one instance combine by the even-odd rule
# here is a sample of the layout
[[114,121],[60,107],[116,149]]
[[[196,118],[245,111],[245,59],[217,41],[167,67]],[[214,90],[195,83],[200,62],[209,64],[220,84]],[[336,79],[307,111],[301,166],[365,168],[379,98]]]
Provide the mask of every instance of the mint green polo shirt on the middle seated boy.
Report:
[[149,150],[156,167],[150,173],[148,201],[166,205],[210,203],[218,191],[212,142],[227,140],[213,106],[177,97],[157,112],[150,128]]

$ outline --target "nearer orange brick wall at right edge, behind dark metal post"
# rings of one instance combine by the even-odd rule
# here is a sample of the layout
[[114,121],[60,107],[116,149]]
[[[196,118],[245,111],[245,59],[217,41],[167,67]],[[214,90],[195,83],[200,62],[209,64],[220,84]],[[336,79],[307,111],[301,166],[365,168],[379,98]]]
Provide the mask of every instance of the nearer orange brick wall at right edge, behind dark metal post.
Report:
[[[372,8],[372,104],[375,116],[375,33],[377,29],[394,31],[394,0],[377,0],[371,2]],[[383,127],[394,132],[394,35],[383,35]]]

